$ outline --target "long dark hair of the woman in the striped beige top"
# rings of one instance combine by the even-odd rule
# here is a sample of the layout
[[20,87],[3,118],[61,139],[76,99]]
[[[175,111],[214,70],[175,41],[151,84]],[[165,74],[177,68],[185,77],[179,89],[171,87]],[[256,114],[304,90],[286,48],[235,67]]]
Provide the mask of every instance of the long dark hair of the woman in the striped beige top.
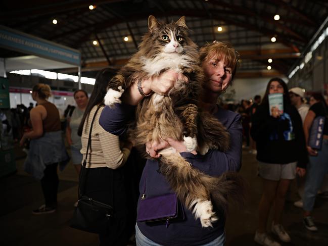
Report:
[[107,93],[107,85],[112,76],[113,76],[113,72],[108,68],[101,70],[97,74],[95,86],[93,86],[93,90],[91,92],[89,102],[85,108],[81,123],[77,130],[77,134],[79,136],[82,135],[85,119],[87,119],[87,117],[89,116],[91,109],[96,105],[98,106],[104,105],[104,97]]

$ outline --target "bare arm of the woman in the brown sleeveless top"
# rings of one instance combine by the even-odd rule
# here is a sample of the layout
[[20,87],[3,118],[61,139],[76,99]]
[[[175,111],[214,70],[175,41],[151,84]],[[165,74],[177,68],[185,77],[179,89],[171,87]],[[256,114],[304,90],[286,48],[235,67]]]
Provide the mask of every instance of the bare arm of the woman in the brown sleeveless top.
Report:
[[44,118],[46,117],[46,111],[39,107],[33,108],[30,111],[30,120],[32,124],[32,130],[29,132],[24,133],[22,136],[22,139],[20,141],[20,145],[22,146],[25,142],[26,139],[34,139],[34,138],[39,138],[43,134],[43,124],[42,124],[42,114],[45,113]]

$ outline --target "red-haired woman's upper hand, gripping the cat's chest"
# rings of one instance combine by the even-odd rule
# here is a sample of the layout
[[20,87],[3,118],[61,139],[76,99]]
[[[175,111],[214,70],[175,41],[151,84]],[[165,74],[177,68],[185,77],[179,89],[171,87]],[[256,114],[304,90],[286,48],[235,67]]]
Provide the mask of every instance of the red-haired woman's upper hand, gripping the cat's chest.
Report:
[[151,77],[142,81],[146,94],[154,91],[160,95],[167,95],[177,81],[188,83],[188,78],[181,73],[167,70],[158,77]]

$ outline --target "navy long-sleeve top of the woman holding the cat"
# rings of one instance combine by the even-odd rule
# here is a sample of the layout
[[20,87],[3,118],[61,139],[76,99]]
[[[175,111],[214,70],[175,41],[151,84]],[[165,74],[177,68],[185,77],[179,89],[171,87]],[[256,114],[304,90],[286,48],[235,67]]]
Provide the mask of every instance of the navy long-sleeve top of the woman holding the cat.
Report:
[[[133,119],[135,107],[125,104],[116,104],[114,108],[105,107],[99,119],[100,125],[108,132],[116,135],[124,134],[127,123]],[[242,124],[239,114],[219,108],[214,116],[227,128],[230,133],[230,149],[226,153],[210,150],[206,155],[193,155],[189,152],[180,153],[193,167],[198,168],[206,174],[219,176],[226,171],[239,171],[242,156]],[[156,160],[148,160],[139,184],[140,194],[144,193],[146,198],[172,193],[165,177],[157,170]],[[146,179],[147,176],[147,179]],[[146,182],[146,184],[145,184]],[[140,198],[139,201],[140,202]],[[200,220],[195,220],[192,212],[186,208],[182,222],[171,223],[168,227],[163,225],[149,225],[137,222],[140,231],[149,239],[161,245],[200,245],[208,243],[224,233],[225,217],[217,211],[220,219],[213,223],[212,227],[202,228]]]

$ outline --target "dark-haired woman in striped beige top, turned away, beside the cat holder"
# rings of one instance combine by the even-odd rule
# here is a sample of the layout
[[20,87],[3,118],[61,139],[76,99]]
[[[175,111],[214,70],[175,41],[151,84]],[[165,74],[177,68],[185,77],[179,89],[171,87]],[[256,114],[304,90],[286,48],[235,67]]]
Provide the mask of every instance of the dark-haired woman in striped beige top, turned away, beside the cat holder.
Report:
[[127,205],[130,198],[127,197],[129,191],[125,189],[125,176],[121,167],[130,155],[132,143],[126,141],[120,147],[119,137],[105,131],[99,125],[99,117],[105,108],[103,99],[111,74],[109,69],[103,69],[98,73],[78,127],[78,135],[81,135],[81,153],[84,160],[92,118],[97,108],[100,108],[92,126],[92,148],[89,149],[86,158],[85,194],[91,199],[112,205],[115,211],[108,232],[99,235],[100,245],[126,246],[129,236],[128,220],[131,219]]

